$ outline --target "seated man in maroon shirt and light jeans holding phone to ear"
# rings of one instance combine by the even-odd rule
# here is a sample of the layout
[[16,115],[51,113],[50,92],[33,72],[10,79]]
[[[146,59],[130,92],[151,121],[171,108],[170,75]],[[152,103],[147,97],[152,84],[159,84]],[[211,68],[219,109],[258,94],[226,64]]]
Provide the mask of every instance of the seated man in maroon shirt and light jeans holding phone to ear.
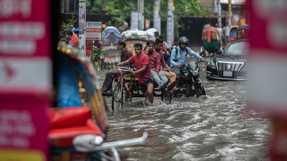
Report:
[[150,59],[150,70],[152,72],[152,77],[154,81],[163,89],[165,89],[166,85],[169,83],[169,79],[160,71],[160,55],[154,51],[154,41],[149,40],[146,42],[148,46],[143,54],[148,55]]

